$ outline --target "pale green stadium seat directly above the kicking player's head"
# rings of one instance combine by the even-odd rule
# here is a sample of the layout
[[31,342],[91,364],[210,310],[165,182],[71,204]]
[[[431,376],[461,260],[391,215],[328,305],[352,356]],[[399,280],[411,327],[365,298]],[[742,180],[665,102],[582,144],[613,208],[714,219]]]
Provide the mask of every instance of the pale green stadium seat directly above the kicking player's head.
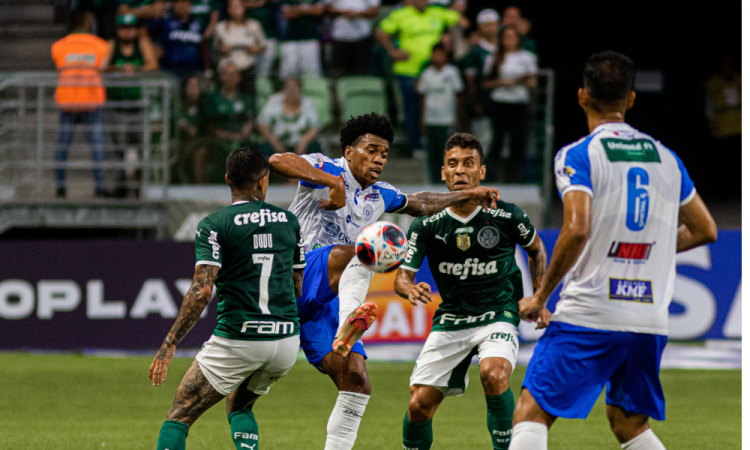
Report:
[[350,117],[376,112],[388,114],[388,100],[385,82],[379,77],[350,76],[341,77],[336,83],[341,102],[341,122]]

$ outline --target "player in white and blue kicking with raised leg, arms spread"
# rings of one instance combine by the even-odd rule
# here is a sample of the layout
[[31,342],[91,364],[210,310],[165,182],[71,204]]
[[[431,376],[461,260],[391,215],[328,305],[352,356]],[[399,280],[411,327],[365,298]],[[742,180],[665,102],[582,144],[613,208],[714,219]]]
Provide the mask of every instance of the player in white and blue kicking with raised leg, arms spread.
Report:
[[494,208],[500,196],[497,189],[481,186],[444,194],[403,194],[378,181],[392,142],[388,118],[372,113],[350,119],[341,129],[340,158],[319,153],[277,153],[270,158],[271,170],[300,180],[289,207],[299,217],[308,252],[305,283],[297,300],[300,347],[339,390],[328,421],[326,450],[352,448],[370,399],[366,354],[359,340],[364,329],[357,330],[350,342],[336,345],[336,350],[333,345],[349,335],[353,324],[367,323],[355,319],[369,319],[371,324],[376,307],[364,303],[372,272],[354,253],[360,230],[386,212],[425,216],[471,202]]

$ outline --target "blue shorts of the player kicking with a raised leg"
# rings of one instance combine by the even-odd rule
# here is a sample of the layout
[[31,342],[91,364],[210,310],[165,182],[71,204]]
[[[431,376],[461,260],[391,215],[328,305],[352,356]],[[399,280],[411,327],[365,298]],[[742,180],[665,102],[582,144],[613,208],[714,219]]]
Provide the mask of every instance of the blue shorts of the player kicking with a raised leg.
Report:
[[[333,338],[339,328],[339,297],[328,285],[328,255],[333,247],[329,245],[307,252],[302,295],[297,299],[300,347],[307,361],[323,373],[320,364],[331,351]],[[367,358],[361,339],[351,351]]]

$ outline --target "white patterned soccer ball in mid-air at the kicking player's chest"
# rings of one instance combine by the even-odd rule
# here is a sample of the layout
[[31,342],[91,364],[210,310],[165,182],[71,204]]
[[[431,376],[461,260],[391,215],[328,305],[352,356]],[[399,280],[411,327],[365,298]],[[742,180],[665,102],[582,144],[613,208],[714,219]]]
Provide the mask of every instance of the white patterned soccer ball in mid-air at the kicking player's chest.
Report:
[[375,273],[395,270],[404,261],[406,236],[390,222],[366,226],[354,244],[360,262]]

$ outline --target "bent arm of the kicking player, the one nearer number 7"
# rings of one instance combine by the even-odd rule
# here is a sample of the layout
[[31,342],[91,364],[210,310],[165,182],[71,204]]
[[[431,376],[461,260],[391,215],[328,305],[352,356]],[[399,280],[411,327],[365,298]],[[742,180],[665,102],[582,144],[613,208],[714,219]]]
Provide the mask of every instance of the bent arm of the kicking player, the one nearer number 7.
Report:
[[295,153],[276,153],[268,158],[271,170],[282,177],[307,181],[308,183],[330,188],[328,200],[321,199],[320,207],[328,211],[341,209],[346,205],[344,180],[311,166]]

